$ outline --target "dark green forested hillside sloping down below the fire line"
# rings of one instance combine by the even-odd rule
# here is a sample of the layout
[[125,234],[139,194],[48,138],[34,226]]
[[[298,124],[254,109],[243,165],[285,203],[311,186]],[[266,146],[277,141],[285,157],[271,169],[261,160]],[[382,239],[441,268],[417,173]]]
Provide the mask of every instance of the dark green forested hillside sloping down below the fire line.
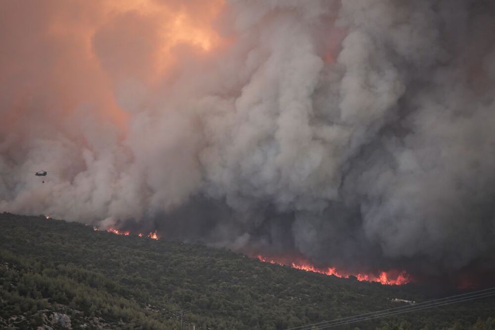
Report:
[[[179,329],[181,316],[183,329],[287,329],[397,307],[393,298],[432,298],[414,284],[357,282],[8,213],[0,214],[0,284],[2,329]],[[494,308],[485,298],[348,329],[493,329]]]

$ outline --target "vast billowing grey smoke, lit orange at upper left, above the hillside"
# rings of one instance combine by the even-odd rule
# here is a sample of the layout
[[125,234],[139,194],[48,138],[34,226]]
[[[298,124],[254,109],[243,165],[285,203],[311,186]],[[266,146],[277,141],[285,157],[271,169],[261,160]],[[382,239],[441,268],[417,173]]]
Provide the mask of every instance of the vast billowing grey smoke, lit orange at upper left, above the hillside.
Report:
[[493,268],[494,1],[0,6],[1,211]]

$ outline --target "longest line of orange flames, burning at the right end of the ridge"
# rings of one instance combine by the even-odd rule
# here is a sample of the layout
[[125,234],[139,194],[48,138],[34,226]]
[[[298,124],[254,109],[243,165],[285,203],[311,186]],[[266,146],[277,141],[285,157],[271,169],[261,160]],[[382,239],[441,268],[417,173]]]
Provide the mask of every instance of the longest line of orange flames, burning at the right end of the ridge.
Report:
[[291,266],[292,268],[297,268],[304,270],[306,272],[313,272],[313,273],[320,273],[320,274],[325,274],[325,275],[333,275],[339,278],[349,278],[349,276],[354,276],[357,278],[358,281],[361,282],[378,282],[386,285],[402,285],[406,283],[410,283],[411,276],[407,274],[405,271],[398,272],[396,276],[395,271],[390,271],[390,272],[385,272],[382,271],[380,272],[379,275],[375,274],[345,274],[343,272],[338,272],[335,267],[327,267],[327,268],[316,268],[314,265],[310,264],[309,262],[293,262],[291,264],[286,264],[283,262],[275,261],[274,259],[263,257],[261,255],[257,255],[256,258],[258,258],[262,262],[268,262],[271,264],[278,264],[278,265],[286,265],[286,266]]

